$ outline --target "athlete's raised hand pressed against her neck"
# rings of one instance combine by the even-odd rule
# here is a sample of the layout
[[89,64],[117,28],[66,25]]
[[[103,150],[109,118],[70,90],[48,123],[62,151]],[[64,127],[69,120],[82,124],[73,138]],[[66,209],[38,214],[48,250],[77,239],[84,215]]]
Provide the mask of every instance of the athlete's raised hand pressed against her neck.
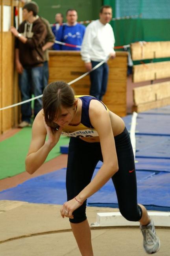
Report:
[[59,141],[63,127],[60,126],[58,130],[52,131],[52,129],[46,124],[45,120],[44,126],[46,128],[48,136],[48,140],[46,141],[46,143],[49,144],[51,147],[54,147]]

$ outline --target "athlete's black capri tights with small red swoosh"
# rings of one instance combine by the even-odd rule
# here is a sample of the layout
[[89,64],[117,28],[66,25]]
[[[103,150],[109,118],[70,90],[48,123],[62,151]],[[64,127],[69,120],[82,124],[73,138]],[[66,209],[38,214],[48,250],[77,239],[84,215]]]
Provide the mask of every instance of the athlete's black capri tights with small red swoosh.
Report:
[[[137,182],[133,149],[128,131],[115,136],[118,172],[112,177],[120,213],[129,221],[139,221],[142,209],[137,204]],[[71,200],[90,182],[98,161],[103,161],[100,143],[70,138],[67,163],[67,200]],[[86,201],[73,212],[72,223],[87,219]]]

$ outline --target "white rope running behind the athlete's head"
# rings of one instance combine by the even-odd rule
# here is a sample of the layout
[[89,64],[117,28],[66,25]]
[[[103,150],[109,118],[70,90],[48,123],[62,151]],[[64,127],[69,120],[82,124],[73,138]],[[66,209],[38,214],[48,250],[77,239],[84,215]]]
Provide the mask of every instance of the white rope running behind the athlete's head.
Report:
[[[75,83],[75,82],[79,81],[81,78],[87,76],[87,75],[88,75],[89,73],[91,73],[93,70],[95,70],[95,69],[97,69],[98,67],[100,67],[100,66],[101,66],[103,63],[105,63],[108,59],[109,59],[109,56],[108,56],[105,60],[103,60],[103,61],[101,61],[100,63],[98,63],[98,64],[97,64],[95,67],[93,67],[90,71],[88,71],[88,72],[86,72],[85,74],[83,74],[82,76],[79,76],[78,78],[72,80],[72,81],[69,82],[68,84],[71,85],[72,83]],[[24,100],[24,101],[22,101],[22,102],[15,103],[15,104],[13,104],[13,105],[6,106],[6,107],[4,107],[4,108],[0,108],[0,110],[5,110],[5,109],[8,109],[8,108],[13,108],[13,107],[16,107],[16,106],[25,104],[25,103],[27,103],[27,102],[30,102],[30,101],[32,101],[32,100],[37,100],[38,98],[41,98],[41,97],[42,97],[42,94],[39,95],[39,96],[30,98],[29,100]]]

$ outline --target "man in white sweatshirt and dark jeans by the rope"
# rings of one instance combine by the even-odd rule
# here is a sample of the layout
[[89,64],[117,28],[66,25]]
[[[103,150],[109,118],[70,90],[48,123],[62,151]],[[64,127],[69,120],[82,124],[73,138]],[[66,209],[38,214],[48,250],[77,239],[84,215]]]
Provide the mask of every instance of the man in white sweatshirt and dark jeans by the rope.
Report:
[[[102,6],[100,9],[100,19],[91,22],[86,29],[81,46],[81,57],[85,61],[88,71],[108,56],[115,58],[115,37],[109,22],[112,19],[112,7]],[[107,90],[108,79],[107,61],[98,69],[90,73],[91,88],[90,95],[102,100]]]

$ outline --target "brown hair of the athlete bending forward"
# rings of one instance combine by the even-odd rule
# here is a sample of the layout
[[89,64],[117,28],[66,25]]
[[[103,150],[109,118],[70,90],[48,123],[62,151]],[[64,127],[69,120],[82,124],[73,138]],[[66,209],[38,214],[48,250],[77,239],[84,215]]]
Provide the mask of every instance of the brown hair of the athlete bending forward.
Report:
[[74,91],[70,85],[63,81],[49,83],[45,87],[42,96],[46,124],[51,128],[57,128],[54,119],[60,113],[61,107],[71,108],[74,102]]

